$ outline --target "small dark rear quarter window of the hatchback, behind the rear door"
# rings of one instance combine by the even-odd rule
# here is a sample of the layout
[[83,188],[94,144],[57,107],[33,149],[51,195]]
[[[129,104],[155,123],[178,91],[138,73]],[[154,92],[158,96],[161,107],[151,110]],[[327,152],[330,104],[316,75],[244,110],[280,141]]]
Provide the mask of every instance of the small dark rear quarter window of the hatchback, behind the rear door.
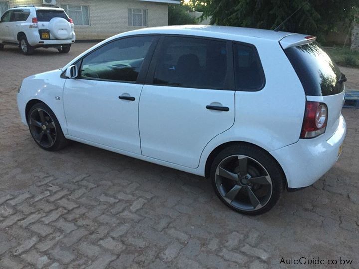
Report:
[[234,44],[234,75],[236,88],[256,91],[264,85],[264,74],[257,51],[252,46]]

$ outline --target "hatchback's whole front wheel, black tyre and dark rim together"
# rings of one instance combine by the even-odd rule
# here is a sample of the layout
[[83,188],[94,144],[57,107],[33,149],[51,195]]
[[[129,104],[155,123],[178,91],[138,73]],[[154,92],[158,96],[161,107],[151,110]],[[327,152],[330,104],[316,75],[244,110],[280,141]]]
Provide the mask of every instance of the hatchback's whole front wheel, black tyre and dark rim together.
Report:
[[44,103],[33,105],[27,115],[32,138],[44,150],[57,151],[68,144],[53,111]]

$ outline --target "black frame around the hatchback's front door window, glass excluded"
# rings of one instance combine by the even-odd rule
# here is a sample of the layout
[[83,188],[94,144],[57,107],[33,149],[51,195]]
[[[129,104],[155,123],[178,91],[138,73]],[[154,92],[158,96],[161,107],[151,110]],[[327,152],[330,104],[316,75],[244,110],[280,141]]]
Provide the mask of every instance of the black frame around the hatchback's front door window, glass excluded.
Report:
[[[87,57],[88,55],[90,55],[91,53],[95,52],[96,50],[112,43],[112,42],[115,42],[115,41],[119,41],[119,40],[123,40],[123,39],[126,39],[126,38],[133,38],[133,37],[144,37],[144,36],[152,36],[153,37],[153,40],[152,40],[152,43],[147,51],[147,54],[146,54],[146,57],[144,58],[144,61],[142,63],[142,66],[141,66],[141,69],[140,69],[140,72],[137,76],[137,79],[136,81],[123,81],[123,80],[109,80],[109,79],[91,79],[91,78],[80,78],[81,76],[81,68],[82,68],[82,61],[85,57]],[[150,62],[151,62],[151,59],[153,57],[153,54],[154,54],[154,51],[155,51],[155,48],[158,44],[158,41],[159,41],[159,35],[158,34],[136,34],[136,35],[127,35],[127,36],[123,36],[123,37],[119,37],[119,38],[116,38],[116,39],[113,39],[113,40],[110,40],[104,44],[102,44],[101,46],[95,48],[94,50],[91,50],[89,53],[87,53],[86,55],[83,55],[80,59],[78,59],[76,62],[74,62],[73,64],[71,65],[78,65],[78,75],[77,75],[77,78],[76,79],[83,79],[83,80],[94,80],[94,81],[108,81],[108,82],[117,82],[117,83],[130,83],[130,84],[145,84],[145,78],[146,78],[146,74],[148,72],[148,69],[149,69],[149,66],[150,66]],[[65,74],[66,74],[66,70],[64,70],[61,74],[61,78],[63,79],[67,79],[65,77]]]

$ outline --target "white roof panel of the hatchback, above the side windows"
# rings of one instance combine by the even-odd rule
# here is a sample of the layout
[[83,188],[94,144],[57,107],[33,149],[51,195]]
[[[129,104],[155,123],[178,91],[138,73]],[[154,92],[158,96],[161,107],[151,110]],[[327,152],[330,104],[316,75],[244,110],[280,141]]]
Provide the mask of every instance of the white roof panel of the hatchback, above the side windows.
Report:
[[289,32],[276,32],[273,30],[242,28],[231,26],[211,26],[211,25],[178,25],[178,26],[162,26],[153,28],[143,28],[131,31],[132,34],[181,34],[181,35],[200,35],[213,37],[214,34],[220,34],[222,37],[227,36],[245,36],[256,37],[261,39],[280,41],[288,35],[296,35]]

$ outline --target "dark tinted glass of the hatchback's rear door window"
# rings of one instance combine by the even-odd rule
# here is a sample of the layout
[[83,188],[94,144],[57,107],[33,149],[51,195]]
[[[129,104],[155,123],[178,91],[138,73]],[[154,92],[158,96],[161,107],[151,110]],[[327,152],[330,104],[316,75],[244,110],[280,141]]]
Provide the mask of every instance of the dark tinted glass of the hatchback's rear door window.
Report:
[[226,74],[226,42],[189,37],[165,37],[153,83],[223,89]]

